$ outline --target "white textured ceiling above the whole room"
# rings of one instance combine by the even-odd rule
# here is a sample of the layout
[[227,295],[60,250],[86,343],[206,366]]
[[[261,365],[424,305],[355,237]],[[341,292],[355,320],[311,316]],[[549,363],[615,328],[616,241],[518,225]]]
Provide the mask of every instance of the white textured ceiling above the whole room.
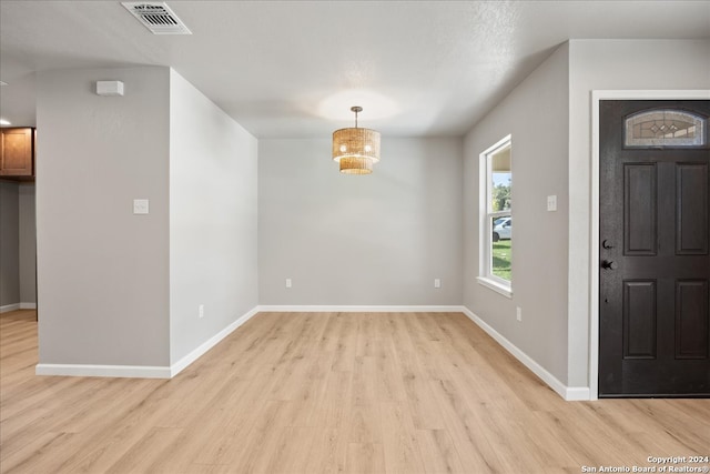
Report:
[[[0,114],[34,123],[34,72],[174,68],[258,138],[460,135],[568,39],[708,39],[708,1],[0,1]],[[710,59],[709,59],[710,60]],[[126,84],[130,93],[130,84]],[[24,122],[24,123],[22,123]]]

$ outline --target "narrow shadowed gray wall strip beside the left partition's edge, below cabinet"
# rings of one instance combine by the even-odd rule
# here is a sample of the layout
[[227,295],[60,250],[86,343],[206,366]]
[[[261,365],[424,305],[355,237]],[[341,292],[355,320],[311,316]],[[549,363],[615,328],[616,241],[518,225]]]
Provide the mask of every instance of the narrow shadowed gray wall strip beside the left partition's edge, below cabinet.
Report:
[[36,264],[37,264],[37,225],[34,183],[20,184],[19,216],[20,216],[20,302],[37,303]]

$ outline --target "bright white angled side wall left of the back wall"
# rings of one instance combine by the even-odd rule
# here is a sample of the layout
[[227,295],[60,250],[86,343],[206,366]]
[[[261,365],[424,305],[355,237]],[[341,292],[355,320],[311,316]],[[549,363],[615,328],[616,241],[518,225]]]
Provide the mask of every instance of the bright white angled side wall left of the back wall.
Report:
[[258,304],[256,159],[256,139],[171,70],[171,364]]

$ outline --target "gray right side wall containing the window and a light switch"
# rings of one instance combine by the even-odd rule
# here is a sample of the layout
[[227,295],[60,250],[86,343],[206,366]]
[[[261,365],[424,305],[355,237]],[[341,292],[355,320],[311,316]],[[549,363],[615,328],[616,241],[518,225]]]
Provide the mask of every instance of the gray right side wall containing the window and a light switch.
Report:
[[[560,46],[464,142],[464,304],[562,384],[568,382],[568,44]],[[479,155],[507,134],[513,135],[511,299],[476,280],[485,206]],[[557,195],[557,211],[547,211],[547,195]]]

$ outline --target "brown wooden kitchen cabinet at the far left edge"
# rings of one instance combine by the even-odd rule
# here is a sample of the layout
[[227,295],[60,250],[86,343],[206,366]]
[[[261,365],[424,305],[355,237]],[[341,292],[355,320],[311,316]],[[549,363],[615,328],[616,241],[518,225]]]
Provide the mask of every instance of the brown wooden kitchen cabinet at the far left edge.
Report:
[[34,132],[30,127],[0,129],[0,178],[34,180]]

